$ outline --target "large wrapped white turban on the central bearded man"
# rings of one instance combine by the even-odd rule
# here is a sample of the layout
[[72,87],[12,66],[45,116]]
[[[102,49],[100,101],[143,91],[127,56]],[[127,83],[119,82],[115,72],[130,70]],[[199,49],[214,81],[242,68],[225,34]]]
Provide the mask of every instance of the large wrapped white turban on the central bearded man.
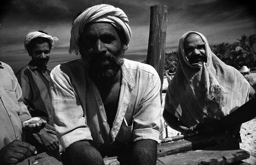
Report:
[[126,46],[131,39],[131,28],[126,14],[119,8],[111,5],[101,4],[92,6],[82,12],[73,22],[70,38],[69,53],[79,54],[78,41],[81,37],[84,26],[91,22],[109,22],[118,29],[122,29],[126,37]]

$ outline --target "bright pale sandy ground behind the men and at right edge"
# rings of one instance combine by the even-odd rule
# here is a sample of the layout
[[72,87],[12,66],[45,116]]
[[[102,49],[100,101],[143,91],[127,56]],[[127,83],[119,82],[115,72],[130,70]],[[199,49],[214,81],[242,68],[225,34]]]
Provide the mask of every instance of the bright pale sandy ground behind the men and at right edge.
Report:
[[[167,89],[168,83],[166,77],[164,77],[163,82],[163,89]],[[164,126],[164,120],[163,120],[163,108],[164,108],[164,98],[165,93],[162,95],[163,97],[163,103],[162,103],[162,111],[161,111],[161,120]],[[168,130],[168,136],[176,136],[178,131],[173,130],[171,127],[167,127]],[[250,158],[243,160],[244,162],[250,163],[251,165],[256,165],[256,118],[250,120],[249,122],[245,122],[241,126],[241,139],[242,142],[240,143],[240,148],[246,151],[250,152]],[[163,138],[166,137],[166,131],[163,129]]]

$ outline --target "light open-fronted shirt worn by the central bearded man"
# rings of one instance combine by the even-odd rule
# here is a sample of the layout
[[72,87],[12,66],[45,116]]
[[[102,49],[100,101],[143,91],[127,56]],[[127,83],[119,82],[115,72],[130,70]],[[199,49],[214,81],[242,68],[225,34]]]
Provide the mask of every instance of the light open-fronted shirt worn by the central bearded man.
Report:
[[121,71],[118,109],[110,130],[99,91],[87,77],[82,60],[52,70],[52,115],[64,150],[81,140],[92,140],[96,148],[115,139],[126,144],[142,139],[158,141],[161,104],[156,70],[125,59]]

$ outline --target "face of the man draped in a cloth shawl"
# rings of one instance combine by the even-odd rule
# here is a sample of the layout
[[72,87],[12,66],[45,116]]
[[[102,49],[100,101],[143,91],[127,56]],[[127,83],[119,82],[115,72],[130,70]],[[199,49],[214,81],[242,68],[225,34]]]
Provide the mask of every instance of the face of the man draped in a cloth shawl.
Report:
[[203,64],[206,61],[205,44],[198,34],[190,33],[186,36],[184,51],[191,65]]

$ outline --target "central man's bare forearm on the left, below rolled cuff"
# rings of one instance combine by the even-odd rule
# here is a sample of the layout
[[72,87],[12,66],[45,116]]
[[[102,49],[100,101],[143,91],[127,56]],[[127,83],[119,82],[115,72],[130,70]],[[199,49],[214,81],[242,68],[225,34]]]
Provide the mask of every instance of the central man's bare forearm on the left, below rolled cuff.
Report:
[[87,141],[74,142],[66,153],[73,165],[105,165],[99,151]]

